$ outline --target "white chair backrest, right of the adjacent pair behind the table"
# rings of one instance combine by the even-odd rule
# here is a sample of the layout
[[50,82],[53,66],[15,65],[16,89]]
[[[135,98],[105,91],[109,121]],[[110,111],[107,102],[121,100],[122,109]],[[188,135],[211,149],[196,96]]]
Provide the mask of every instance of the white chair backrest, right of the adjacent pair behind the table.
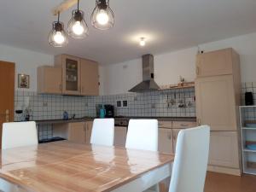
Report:
[[131,119],[128,125],[125,148],[157,151],[157,119]]

